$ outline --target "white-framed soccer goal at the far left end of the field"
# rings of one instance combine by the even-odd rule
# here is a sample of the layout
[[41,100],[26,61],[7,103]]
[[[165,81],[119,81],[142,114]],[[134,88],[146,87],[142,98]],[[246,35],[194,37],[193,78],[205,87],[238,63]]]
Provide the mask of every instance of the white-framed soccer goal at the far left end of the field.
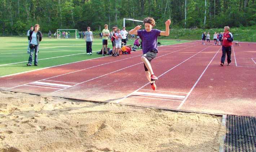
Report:
[[77,29],[57,29],[57,38],[75,38],[79,39],[79,33]]

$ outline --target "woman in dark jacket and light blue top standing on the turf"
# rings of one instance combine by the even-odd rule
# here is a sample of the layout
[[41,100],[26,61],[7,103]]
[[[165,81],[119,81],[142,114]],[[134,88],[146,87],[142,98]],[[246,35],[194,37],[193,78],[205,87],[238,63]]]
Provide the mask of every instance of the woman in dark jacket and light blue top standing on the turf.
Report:
[[33,61],[33,52],[35,50],[35,59],[34,59],[34,65],[37,66],[37,53],[39,52],[39,44],[42,41],[43,34],[39,31],[39,24],[35,25],[35,30],[30,33],[29,39],[30,39],[30,56],[28,58],[27,66],[31,66]]

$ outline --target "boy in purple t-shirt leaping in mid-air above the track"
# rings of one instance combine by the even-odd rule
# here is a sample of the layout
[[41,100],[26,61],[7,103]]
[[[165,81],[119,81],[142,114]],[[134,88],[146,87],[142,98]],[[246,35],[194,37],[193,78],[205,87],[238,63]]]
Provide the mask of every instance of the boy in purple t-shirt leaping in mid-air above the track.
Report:
[[168,36],[169,35],[169,25],[171,24],[171,20],[167,20],[165,22],[165,31],[160,31],[158,29],[152,29],[155,26],[155,20],[153,18],[145,18],[143,20],[143,24],[145,25],[145,30],[140,30],[141,25],[138,25],[134,29],[129,31],[129,34],[136,34],[142,40],[142,51],[143,55],[141,60],[144,62],[144,68],[146,71],[147,80],[149,80],[151,84],[151,88],[156,90],[155,80],[157,77],[154,75],[154,72],[151,67],[151,60],[156,57],[158,53],[157,49],[157,37],[160,35]]

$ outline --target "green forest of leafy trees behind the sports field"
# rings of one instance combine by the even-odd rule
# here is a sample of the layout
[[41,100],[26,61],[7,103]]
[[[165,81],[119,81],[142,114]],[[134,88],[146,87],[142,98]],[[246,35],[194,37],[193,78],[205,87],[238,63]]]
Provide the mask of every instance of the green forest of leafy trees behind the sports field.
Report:
[[[122,27],[123,18],[150,16],[156,26],[172,20],[171,28],[222,28],[256,24],[255,0],[0,0],[0,34],[26,33],[40,24],[56,29],[102,30],[104,24]],[[141,24],[126,22],[127,27]]]

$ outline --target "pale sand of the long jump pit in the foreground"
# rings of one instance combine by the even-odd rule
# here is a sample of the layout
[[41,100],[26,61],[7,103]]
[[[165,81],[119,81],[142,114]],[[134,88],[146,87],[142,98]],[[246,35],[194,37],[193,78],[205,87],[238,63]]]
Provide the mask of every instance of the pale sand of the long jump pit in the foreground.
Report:
[[221,117],[0,91],[0,152],[217,152]]

